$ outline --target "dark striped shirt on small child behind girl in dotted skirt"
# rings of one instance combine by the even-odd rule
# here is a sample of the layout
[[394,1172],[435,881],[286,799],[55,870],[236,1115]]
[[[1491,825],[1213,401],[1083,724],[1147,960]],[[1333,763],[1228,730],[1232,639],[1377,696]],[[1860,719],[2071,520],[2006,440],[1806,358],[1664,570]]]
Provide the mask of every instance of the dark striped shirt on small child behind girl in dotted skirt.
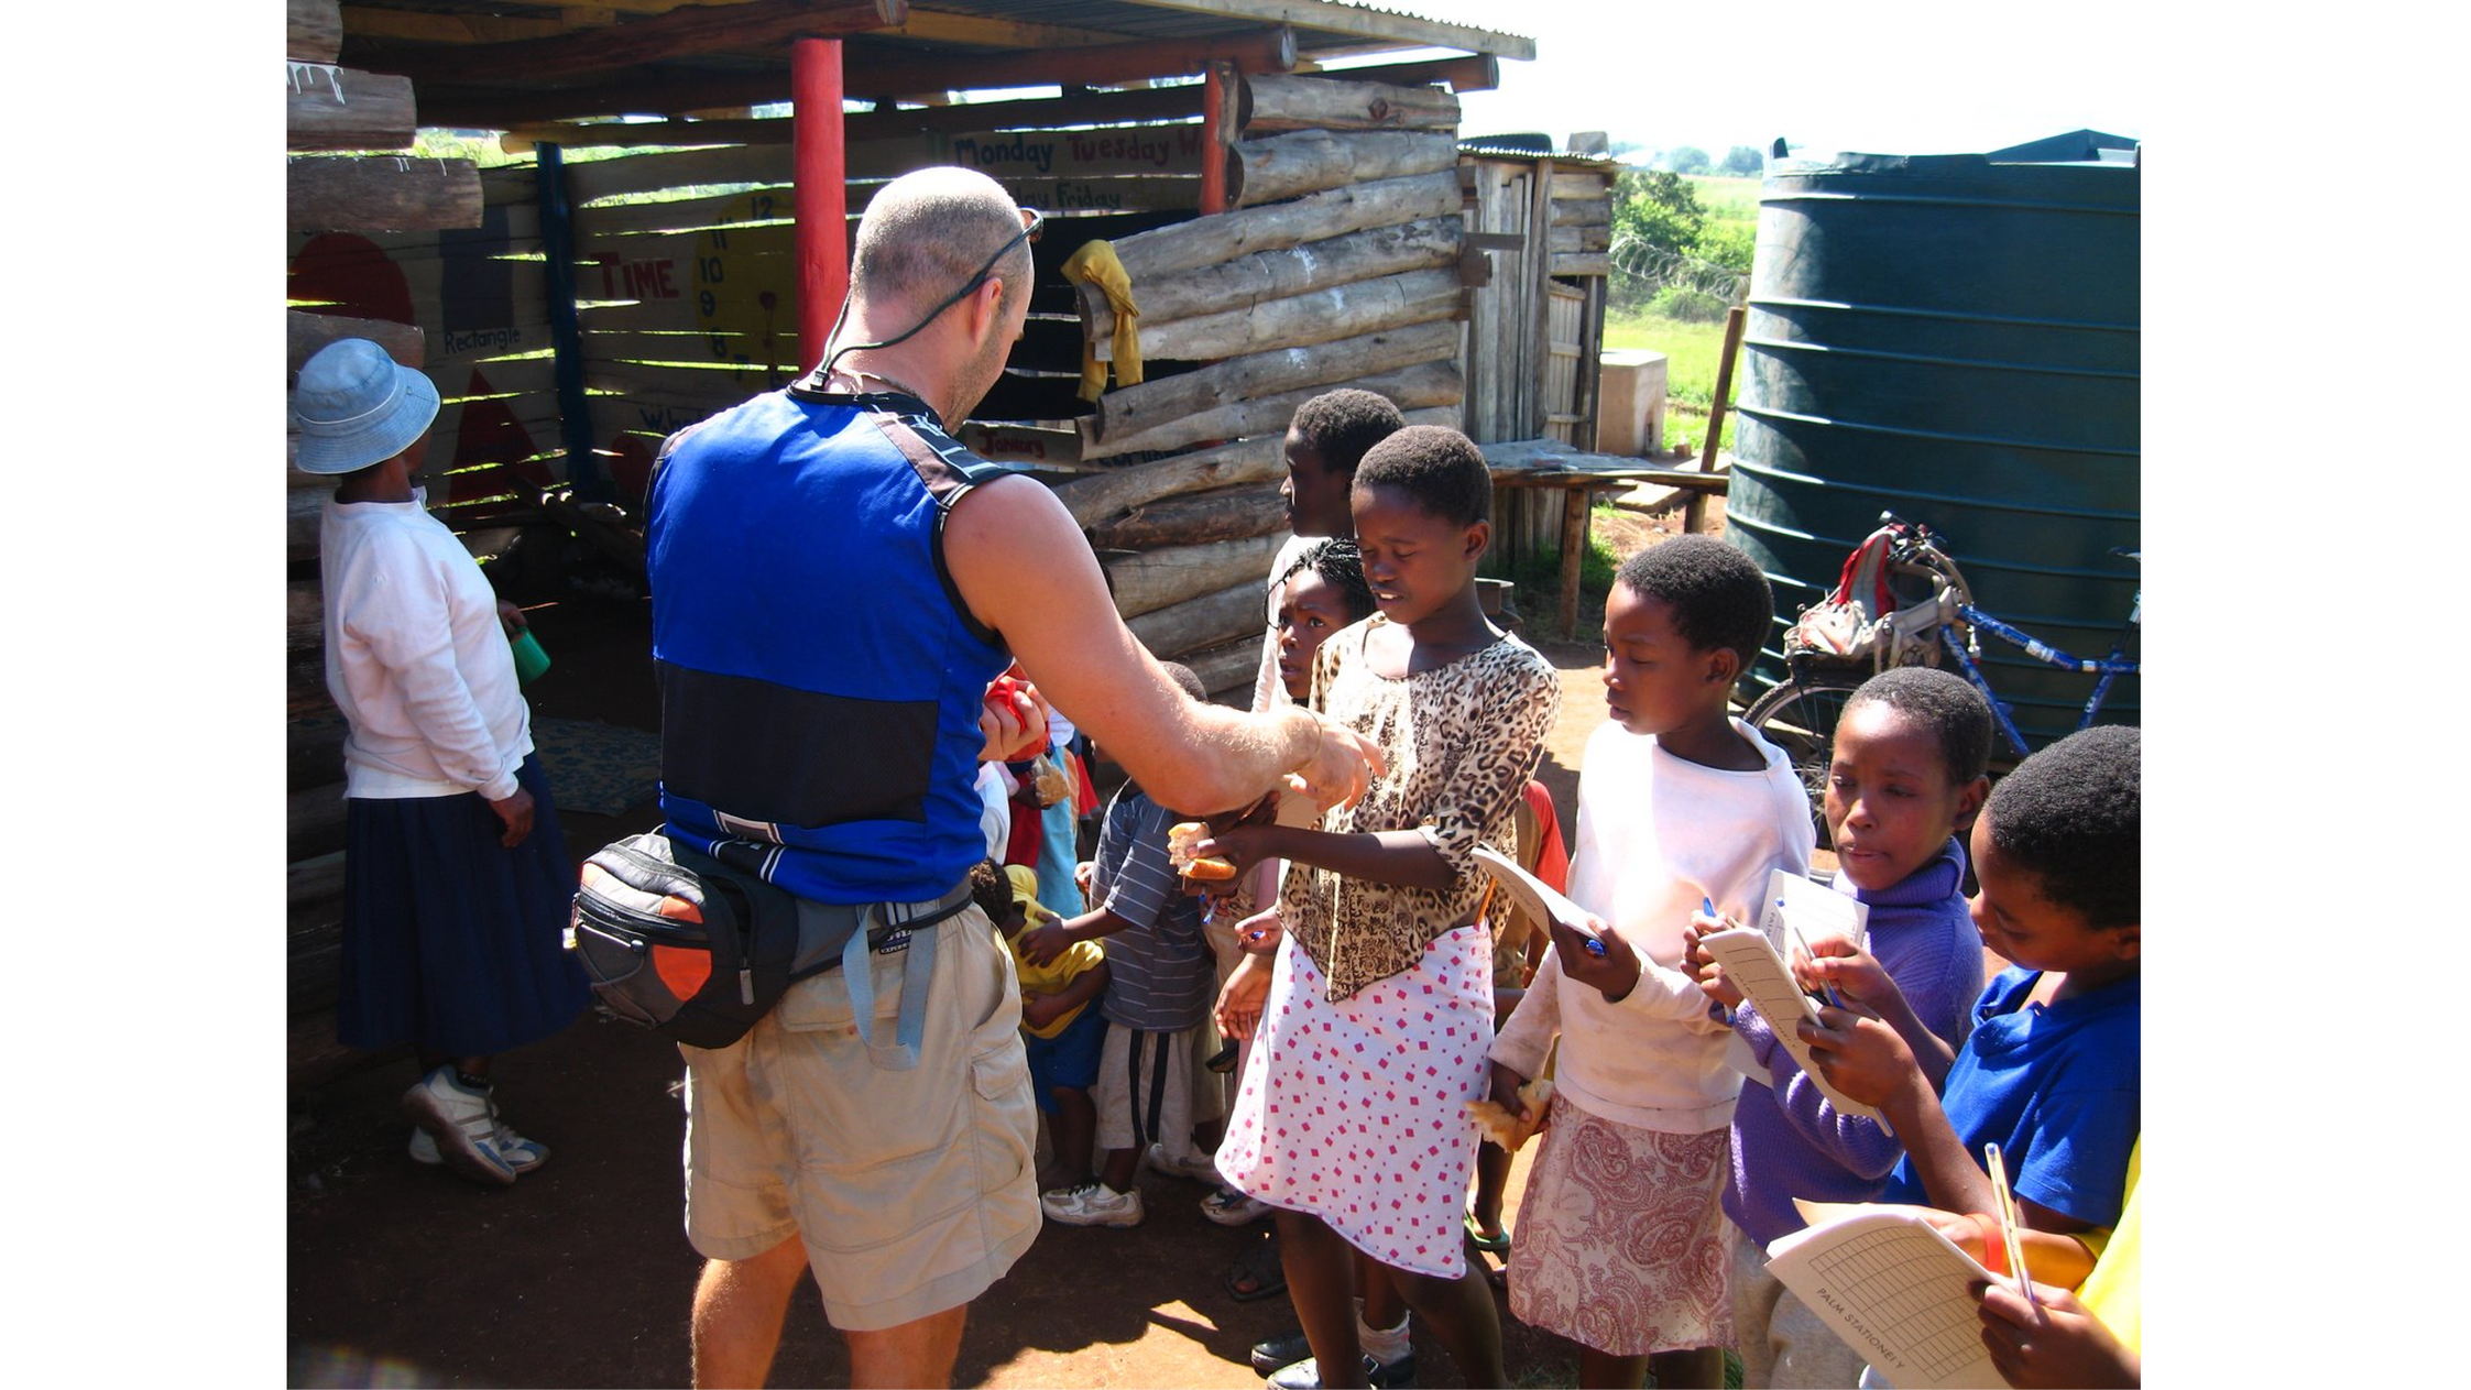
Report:
[[1124,783],[1097,832],[1092,891],[1132,926],[1107,938],[1100,1015],[1142,1032],[1184,1032],[1211,1017],[1216,970],[1201,936],[1201,899],[1181,891],[1166,862],[1176,812]]

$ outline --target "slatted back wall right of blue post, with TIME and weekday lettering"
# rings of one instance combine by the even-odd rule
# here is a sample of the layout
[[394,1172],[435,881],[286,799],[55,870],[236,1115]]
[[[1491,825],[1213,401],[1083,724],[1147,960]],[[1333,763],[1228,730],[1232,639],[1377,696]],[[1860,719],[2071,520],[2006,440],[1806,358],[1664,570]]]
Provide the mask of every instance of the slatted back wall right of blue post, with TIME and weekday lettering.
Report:
[[[979,168],[1048,217],[1030,247],[1025,338],[979,407],[988,420],[1048,430],[998,432],[988,457],[1075,467],[1082,333],[1058,267],[1085,239],[1127,237],[1198,207],[1198,114],[1201,89],[1191,86],[848,119],[852,235],[877,188],[937,163]],[[1109,119],[1139,123],[1063,128]],[[702,123],[672,126],[667,138],[682,141]],[[788,383],[801,360],[788,121],[709,126],[741,143],[566,165],[593,439],[620,501],[640,491],[667,432]],[[546,141],[558,131],[526,133]]]

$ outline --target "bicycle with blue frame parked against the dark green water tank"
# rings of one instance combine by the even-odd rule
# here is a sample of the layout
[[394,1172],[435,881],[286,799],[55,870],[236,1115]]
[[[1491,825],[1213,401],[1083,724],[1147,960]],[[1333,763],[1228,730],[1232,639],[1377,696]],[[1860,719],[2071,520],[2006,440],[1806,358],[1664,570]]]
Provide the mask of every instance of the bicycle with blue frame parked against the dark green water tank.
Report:
[[[2142,588],[2128,605],[2128,622],[2120,625],[2108,657],[2071,657],[2031,632],[1984,612],[1974,602],[1972,585],[1964,583],[1964,570],[1940,548],[1942,536],[1930,531],[1930,526],[1905,521],[1893,511],[1880,511],[1878,518],[1880,528],[1863,538],[1846,560],[1846,573],[1836,593],[1804,607],[1787,635],[1784,684],[1754,699],[1742,714],[1742,723],[1757,728],[1759,736],[1784,748],[1784,755],[1794,760],[1794,773],[1811,797],[1811,820],[1819,825],[1821,849],[1829,847],[1826,793],[1836,721],[1843,716],[1846,699],[1871,674],[1888,667],[1937,667],[1952,657],[1957,672],[1989,701],[1992,723],[1999,728],[2006,748],[2021,760],[2031,748],[2016,728],[2009,704],[1992,691],[1989,676],[1982,674],[1982,632],[1999,637],[2046,667],[2098,676],[2076,728],[2093,726],[2093,718],[2103,711],[2103,701],[2110,696],[2113,681],[2132,676],[2142,667],[2140,659],[2125,654],[2132,635],[2142,627]],[[1878,563],[1866,570],[1866,551],[1873,546],[1878,546]],[[2110,553],[2140,560],[2140,551],[2113,548]],[[1895,602],[1893,607],[1885,602],[1898,590],[1913,593],[1915,583],[1927,585],[1927,595]],[[1888,612],[1871,617],[1873,602],[1875,607],[1888,607]]]

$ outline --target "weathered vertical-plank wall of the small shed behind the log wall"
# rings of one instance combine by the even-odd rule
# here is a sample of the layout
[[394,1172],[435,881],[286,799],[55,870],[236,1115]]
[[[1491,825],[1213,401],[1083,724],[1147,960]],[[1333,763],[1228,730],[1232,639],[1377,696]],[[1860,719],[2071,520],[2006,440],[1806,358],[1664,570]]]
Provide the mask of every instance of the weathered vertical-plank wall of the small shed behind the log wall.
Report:
[[[1480,444],[1557,439],[1596,447],[1604,281],[1611,272],[1611,165],[1589,158],[1468,158],[1470,247],[1492,257],[1470,294],[1468,435]],[[1557,551],[1562,494],[1497,489],[1495,556],[1515,570]]]

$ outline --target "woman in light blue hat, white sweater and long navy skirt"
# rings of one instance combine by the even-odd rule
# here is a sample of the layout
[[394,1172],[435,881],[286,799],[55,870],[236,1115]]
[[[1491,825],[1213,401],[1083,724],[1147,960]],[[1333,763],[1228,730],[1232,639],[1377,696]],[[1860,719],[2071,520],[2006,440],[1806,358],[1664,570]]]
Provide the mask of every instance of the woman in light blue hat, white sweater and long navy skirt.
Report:
[[425,375],[343,338],[301,365],[292,412],[299,469],[339,479],[319,521],[326,689],[351,723],[336,1034],[410,1042],[413,1158],[507,1185],[549,1151],[497,1118],[489,1059],[591,997],[561,951],[576,881],[507,644],[521,612],[413,486]]

